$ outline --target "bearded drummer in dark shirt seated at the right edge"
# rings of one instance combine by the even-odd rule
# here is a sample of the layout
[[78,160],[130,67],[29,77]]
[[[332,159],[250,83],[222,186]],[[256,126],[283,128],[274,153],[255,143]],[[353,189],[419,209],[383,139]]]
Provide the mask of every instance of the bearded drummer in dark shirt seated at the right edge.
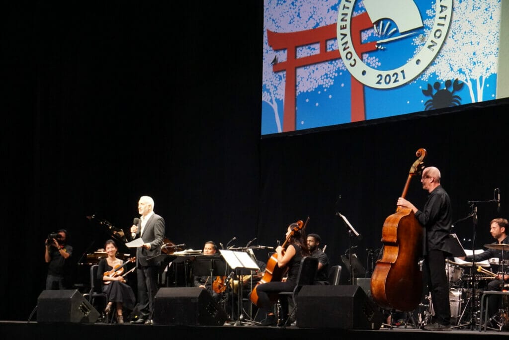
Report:
[[[498,259],[498,263],[501,264],[499,266],[500,270],[497,270],[496,276],[488,282],[487,289],[488,291],[502,291],[504,281],[509,279],[509,275],[507,275],[507,261],[509,260],[509,236],[507,236],[507,228],[509,223],[505,218],[495,218],[490,222],[490,234],[496,240],[493,243],[485,244],[486,249],[482,253],[475,254],[475,262],[489,260],[489,259]],[[469,255],[467,257],[460,258],[465,261],[473,262],[473,255]],[[503,272],[506,273],[502,275]],[[499,308],[501,308],[501,296],[491,294],[488,297],[488,314],[490,318],[493,317]]]

